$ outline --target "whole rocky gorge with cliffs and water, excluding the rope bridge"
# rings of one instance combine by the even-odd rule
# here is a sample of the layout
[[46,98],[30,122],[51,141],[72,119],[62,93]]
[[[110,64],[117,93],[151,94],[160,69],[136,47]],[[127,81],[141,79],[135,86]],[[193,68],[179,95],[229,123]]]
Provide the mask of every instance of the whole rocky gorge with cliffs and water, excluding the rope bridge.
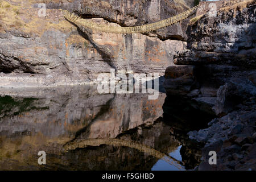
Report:
[[[63,10],[103,27],[135,27],[194,1],[1,0],[0,169],[254,171],[256,5],[222,2],[199,2],[195,14],[158,30],[115,34]],[[116,82],[118,73],[159,74],[158,98],[100,94],[98,77],[110,70]]]

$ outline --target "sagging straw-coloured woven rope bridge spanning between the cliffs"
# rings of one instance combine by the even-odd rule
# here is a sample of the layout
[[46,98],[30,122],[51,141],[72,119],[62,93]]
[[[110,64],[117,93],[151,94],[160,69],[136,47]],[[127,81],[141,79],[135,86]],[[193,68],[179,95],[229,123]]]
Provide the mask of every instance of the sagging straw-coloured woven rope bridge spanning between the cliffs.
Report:
[[136,27],[106,26],[103,24],[94,23],[90,20],[82,19],[79,16],[71,14],[66,10],[62,10],[62,11],[67,20],[75,23],[78,26],[83,26],[86,28],[90,28],[92,30],[97,30],[97,31],[102,31],[102,32],[112,32],[112,33],[116,33],[116,34],[133,34],[133,33],[152,32],[152,31],[158,30],[159,28],[164,28],[164,27],[170,26],[171,24],[180,22],[181,20],[188,18],[188,16],[191,16],[192,14],[196,13],[197,7],[198,7],[198,5],[193,7],[192,9],[184,11],[181,14],[172,16],[171,18],[164,19],[159,22],[144,24],[142,26],[136,26]]

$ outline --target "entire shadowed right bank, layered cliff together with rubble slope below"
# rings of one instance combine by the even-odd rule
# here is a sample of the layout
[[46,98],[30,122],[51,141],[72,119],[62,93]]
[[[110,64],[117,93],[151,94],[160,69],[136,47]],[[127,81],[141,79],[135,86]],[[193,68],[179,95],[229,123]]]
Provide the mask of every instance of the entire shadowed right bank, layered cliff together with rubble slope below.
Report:
[[[187,28],[187,49],[166,70],[168,95],[217,117],[188,133],[205,144],[201,170],[255,170],[255,7],[247,1],[197,18]],[[208,163],[212,150],[217,165]]]

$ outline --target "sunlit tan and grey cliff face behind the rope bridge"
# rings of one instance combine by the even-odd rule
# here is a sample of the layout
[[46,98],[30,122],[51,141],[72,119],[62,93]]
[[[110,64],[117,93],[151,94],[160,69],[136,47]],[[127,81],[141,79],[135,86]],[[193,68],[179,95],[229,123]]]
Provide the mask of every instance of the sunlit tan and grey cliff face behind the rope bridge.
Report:
[[[57,10],[69,10],[112,26],[137,26],[179,14],[188,9],[185,3],[43,1],[47,8],[46,17],[39,17],[39,9],[22,10],[14,6],[16,1],[8,2],[1,1],[2,87],[95,83],[100,73],[109,73],[111,68],[116,72],[163,75],[166,67],[173,65],[175,52],[186,46],[186,21],[150,35],[120,35],[77,27]],[[38,7],[37,3],[32,3],[31,7]]]

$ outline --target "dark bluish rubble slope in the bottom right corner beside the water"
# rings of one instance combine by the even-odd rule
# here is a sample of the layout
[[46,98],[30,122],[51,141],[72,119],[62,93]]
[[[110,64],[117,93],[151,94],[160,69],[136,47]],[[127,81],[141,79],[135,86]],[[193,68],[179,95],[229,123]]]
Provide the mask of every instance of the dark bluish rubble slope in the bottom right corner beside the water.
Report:
[[[243,114],[242,114],[243,113]],[[202,154],[207,156],[208,148],[212,145],[222,142],[222,145],[216,147],[218,150],[217,158],[220,159],[215,167],[210,167],[207,164],[207,159],[204,158],[199,169],[204,170],[248,170],[255,168],[254,160],[256,159],[254,152],[254,132],[251,130],[250,121],[254,111],[233,111],[224,117],[215,118],[209,122],[209,128],[189,132],[189,137],[204,142]],[[249,117],[245,117],[245,115]],[[242,119],[244,118],[244,119]],[[229,126],[229,127],[224,127]],[[214,148],[211,148],[214,150]],[[249,155],[250,154],[250,155]],[[248,162],[250,160],[250,162]]]

